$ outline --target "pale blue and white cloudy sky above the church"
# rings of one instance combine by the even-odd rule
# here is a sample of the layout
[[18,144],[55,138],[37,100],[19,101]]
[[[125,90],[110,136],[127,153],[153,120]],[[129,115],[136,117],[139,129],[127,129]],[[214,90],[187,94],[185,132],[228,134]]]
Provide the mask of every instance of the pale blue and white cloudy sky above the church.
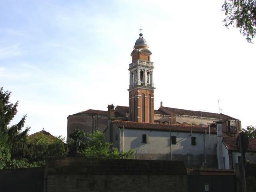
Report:
[[142,26],[155,109],[222,112],[256,125],[255,45],[223,27],[222,1],[0,1],[0,86],[30,133],[66,136],[66,117],[128,106],[128,64]]

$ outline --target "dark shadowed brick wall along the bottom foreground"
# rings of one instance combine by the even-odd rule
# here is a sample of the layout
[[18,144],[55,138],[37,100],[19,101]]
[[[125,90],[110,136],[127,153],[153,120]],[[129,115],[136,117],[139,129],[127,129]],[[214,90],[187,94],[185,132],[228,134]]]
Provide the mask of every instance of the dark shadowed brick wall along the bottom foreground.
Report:
[[47,169],[47,192],[187,192],[182,162],[54,158]]

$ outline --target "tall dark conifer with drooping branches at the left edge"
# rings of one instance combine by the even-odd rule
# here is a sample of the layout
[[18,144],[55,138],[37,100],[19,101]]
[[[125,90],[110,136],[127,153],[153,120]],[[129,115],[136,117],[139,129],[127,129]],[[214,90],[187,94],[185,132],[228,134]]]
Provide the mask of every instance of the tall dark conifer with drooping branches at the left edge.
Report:
[[11,120],[17,114],[18,102],[9,102],[11,92],[4,92],[0,88],[0,169],[14,167],[28,167],[31,164],[23,160],[14,160],[28,154],[26,147],[26,135],[29,128],[24,127],[26,115],[22,117],[18,124],[9,126]]

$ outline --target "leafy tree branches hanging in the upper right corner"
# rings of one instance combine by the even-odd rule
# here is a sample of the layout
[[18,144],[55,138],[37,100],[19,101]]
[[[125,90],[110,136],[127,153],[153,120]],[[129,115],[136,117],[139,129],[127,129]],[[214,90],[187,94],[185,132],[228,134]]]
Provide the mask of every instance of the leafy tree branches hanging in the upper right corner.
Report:
[[225,26],[236,26],[248,42],[256,35],[256,0],[225,0]]

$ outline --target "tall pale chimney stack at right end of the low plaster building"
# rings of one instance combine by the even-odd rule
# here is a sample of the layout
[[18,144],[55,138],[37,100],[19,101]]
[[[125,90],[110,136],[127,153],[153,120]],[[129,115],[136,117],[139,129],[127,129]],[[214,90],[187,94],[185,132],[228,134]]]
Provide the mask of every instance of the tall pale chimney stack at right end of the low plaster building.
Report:
[[218,168],[223,169],[223,153],[222,153],[222,122],[217,124],[217,158]]

